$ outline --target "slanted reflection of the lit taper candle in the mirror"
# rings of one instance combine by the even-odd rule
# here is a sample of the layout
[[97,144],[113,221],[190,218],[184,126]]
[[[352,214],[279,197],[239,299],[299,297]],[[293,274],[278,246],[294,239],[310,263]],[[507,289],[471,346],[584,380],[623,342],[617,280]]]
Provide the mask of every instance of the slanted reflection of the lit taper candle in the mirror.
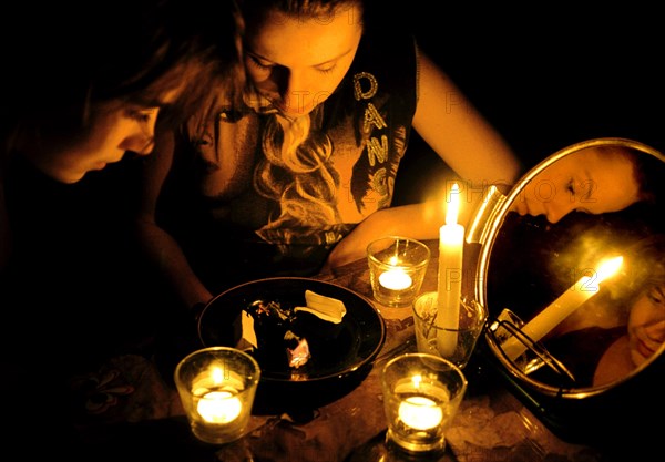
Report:
[[[600,284],[616,274],[622,264],[623,257],[612,258],[601,265],[596,275],[581,277],[549,307],[525,324],[521,329],[522,332],[534,342],[539,341],[577,307],[596,295]],[[514,336],[508,338],[501,348],[511,360],[520,357],[526,350],[526,346]]]

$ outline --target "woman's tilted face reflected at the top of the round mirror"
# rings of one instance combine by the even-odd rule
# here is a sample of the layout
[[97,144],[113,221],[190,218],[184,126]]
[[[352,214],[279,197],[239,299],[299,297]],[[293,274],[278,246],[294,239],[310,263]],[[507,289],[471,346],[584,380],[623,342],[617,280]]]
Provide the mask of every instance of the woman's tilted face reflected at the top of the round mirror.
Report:
[[511,211],[557,223],[571,212],[617,212],[637,202],[632,156],[620,147],[587,147],[552,163],[520,192]]

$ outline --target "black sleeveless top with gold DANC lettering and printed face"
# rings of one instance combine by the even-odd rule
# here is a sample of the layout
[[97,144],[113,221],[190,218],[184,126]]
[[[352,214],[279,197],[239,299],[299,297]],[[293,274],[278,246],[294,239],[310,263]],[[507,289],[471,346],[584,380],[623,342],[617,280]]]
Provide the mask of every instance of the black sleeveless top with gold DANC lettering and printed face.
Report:
[[365,35],[290,158],[273,113],[219,107],[203,134],[193,120],[157,219],[212,291],[315,274],[360,220],[390,206],[416,102],[412,38]]

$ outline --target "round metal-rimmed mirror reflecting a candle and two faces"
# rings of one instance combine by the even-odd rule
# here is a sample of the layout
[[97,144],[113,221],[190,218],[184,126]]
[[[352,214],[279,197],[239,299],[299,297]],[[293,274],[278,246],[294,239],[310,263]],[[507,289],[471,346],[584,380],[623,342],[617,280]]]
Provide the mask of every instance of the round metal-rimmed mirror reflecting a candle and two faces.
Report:
[[664,171],[649,146],[601,138],[513,188],[479,278],[509,368],[545,388],[607,387],[665,349]]

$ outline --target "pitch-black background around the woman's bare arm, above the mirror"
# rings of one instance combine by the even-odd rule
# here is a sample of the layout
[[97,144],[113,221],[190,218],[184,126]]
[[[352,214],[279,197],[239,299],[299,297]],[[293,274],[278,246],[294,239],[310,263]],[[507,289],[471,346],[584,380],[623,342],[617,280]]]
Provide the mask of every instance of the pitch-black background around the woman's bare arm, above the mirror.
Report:
[[[515,150],[525,168],[581,141],[627,137],[665,150],[659,14],[638,3],[580,11],[543,4],[412,0],[407,17],[439,63]],[[416,135],[398,177],[398,203],[446,172]]]

